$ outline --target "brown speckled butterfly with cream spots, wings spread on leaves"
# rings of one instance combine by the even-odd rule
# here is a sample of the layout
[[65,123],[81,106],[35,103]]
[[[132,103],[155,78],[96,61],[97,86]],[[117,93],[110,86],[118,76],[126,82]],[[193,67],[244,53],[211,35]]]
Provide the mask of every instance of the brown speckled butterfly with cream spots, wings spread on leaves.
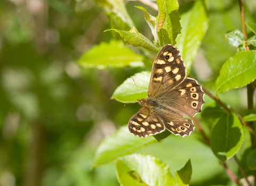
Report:
[[202,87],[192,78],[186,78],[186,67],[173,45],[165,45],[152,66],[148,97],[138,99],[142,108],[129,121],[129,130],[135,136],[146,137],[165,129],[181,137],[194,132],[193,117],[204,104]]

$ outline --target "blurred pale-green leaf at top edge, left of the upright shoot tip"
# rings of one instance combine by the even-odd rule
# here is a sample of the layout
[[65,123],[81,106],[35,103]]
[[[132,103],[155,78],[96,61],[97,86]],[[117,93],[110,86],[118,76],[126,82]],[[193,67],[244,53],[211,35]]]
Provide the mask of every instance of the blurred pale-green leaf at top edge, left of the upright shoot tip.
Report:
[[134,25],[123,0],[94,0],[94,2],[108,15],[111,28],[129,30]]

